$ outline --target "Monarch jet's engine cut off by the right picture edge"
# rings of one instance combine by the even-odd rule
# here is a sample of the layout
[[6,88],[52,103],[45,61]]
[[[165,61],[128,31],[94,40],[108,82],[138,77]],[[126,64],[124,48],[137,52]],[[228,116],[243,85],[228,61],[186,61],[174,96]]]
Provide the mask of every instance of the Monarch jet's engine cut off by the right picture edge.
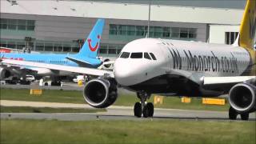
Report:
[[250,82],[238,83],[230,90],[230,106],[238,113],[256,110],[256,86]]

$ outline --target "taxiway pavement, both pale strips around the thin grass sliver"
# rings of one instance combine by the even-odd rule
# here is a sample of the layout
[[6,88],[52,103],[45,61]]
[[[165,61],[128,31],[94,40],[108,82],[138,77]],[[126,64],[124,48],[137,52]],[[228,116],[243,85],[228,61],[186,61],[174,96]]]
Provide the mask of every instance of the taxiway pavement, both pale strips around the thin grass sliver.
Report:
[[[58,102],[22,102],[22,101],[0,101],[2,106],[32,106],[32,107],[69,107],[94,109],[86,104],[71,104]],[[146,120],[149,118],[135,118],[131,106],[110,106],[106,112],[98,113],[1,113],[1,118],[29,118],[29,119],[57,119],[62,121],[85,121],[85,120]],[[208,110],[176,110],[176,109],[154,109],[154,118],[150,119],[206,119],[206,120],[229,120],[227,111]],[[238,116],[238,119],[240,117]],[[256,114],[250,114],[250,121],[256,121]]]

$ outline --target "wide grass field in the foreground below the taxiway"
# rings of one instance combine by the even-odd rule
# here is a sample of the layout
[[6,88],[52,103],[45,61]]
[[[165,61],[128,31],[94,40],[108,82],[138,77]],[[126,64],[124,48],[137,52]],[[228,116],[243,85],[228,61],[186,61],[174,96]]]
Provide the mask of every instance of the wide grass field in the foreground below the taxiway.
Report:
[[1,120],[4,143],[255,143],[255,122]]

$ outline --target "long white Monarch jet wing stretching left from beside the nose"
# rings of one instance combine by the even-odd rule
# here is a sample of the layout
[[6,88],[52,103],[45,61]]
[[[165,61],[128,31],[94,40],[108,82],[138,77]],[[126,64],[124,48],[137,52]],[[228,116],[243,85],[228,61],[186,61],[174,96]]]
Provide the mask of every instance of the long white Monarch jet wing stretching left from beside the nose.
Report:
[[18,61],[18,60],[11,60],[11,59],[5,59],[2,61],[2,63],[14,65],[14,66],[42,67],[42,68],[47,68],[50,70],[69,71],[69,72],[74,72],[74,73],[79,73],[79,74],[89,74],[89,75],[96,75],[96,76],[102,76],[105,74],[109,74],[110,77],[114,78],[114,74],[112,71],[91,69],[91,68],[86,68],[86,67],[60,66],[60,65],[54,65],[54,64],[46,64],[46,63],[39,63],[39,62],[26,62],[26,61]]

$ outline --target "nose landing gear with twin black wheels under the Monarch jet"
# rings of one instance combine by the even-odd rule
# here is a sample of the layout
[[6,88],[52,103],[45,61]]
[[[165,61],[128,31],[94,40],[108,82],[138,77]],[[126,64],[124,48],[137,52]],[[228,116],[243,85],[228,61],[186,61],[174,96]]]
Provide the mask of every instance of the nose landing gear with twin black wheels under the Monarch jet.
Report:
[[154,115],[154,105],[151,102],[146,102],[146,99],[150,98],[150,94],[146,92],[138,92],[137,97],[141,102],[136,102],[134,105],[134,116],[141,118],[142,114],[144,118],[153,117]]

